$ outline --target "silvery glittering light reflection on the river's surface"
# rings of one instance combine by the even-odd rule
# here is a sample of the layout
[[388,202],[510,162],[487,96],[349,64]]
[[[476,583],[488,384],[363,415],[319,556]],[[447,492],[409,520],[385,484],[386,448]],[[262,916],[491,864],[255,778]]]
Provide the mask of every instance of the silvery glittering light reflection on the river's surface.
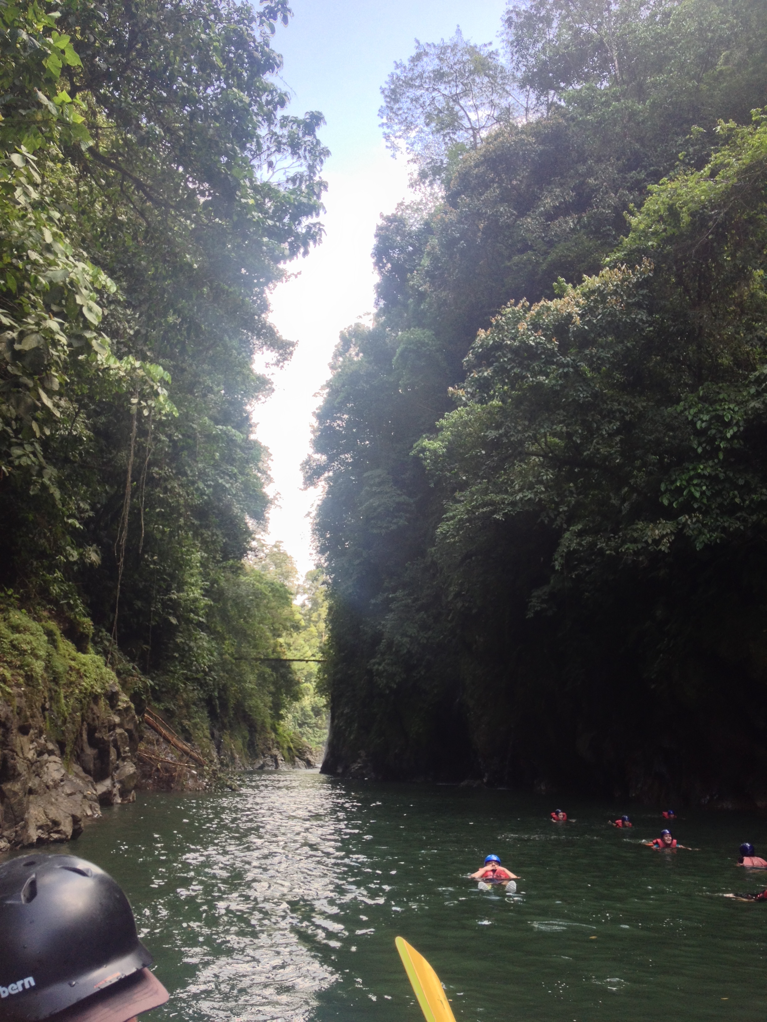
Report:
[[347,935],[332,917],[354,896],[337,890],[354,805],[328,786],[297,785],[288,775],[270,781],[227,798],[228,812],[220,800],[197,802],[198,841],[155,873],[169,886],[189,881],[159,899],[144,931],[152,946],[171,914],[182,920],[176,954],[194,978],[178,989],[169,1018],[299,1022],[333,980],[302,934],[330,947],[340,946],[333,935]]

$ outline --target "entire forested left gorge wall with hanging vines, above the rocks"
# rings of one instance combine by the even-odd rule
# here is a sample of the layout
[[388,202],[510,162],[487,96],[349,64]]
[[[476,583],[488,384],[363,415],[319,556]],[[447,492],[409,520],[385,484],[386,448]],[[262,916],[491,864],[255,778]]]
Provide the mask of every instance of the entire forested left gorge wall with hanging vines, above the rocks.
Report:
[[253,660],[299,628],[291,586],[243,566],[268,506],[254,357],[292,350],[268,292],[322,233],[322,118],[287,112],[270,44],[288,15],[0,21],[0,578],[92,617],[189,734],[242,754],[299,694]]

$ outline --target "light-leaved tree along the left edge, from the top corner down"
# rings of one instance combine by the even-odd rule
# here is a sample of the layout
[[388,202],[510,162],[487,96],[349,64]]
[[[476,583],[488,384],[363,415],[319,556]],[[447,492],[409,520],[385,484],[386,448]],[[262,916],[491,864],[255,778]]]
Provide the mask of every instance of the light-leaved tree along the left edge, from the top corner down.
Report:
[[0,29],[5,94],[0,131],[0,479],[20,472],[35,494],[46,487],[58,500],[57,475],[45,449],[49,437],[72,432],[79,390],[90,386],[120,393],[130,388],[159,414],[173,406],[164,386],[170,378],[160,366],[116,359],[109,339],[97,331],[99,292],[114,293],[115,284],[62,230],[49,182],[42,176],[61,179],[67,174],[49,166],[48,150],[66,145],[82,151],[92,143],[83,104],[62,88],[62,69],[81,67],[80,57],[56,25],[57,15],[32,3],[8,7]]

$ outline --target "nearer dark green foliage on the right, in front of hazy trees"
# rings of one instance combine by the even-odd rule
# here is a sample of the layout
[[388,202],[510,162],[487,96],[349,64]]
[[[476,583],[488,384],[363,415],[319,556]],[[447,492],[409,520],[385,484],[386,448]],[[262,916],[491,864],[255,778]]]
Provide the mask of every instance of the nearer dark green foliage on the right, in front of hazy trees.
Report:
[[[652,770],[643,743],[695,747],[758,797],[762,710],[749,717],[725,679],[756,682],[764,654],[767,134],[721,131],[708,167],[652,191],[612,267],[480,333],[462,407],[420,451],[451,491],[434,548],[448,606],[473,642],[478,614],[493,636],[484,659],[505,676],[521,758],[546,770],[545,737],[522,736],[558,693],[557,755],[580,759],[581,777],[590,761],[631,784],[632,769]],[[508,738],[475,685],[496,773]],[[740,777],[721,752],[733,729]],[[574,732],[588,754],[563,754]],[[688,794],[698,781],[673,779]]]

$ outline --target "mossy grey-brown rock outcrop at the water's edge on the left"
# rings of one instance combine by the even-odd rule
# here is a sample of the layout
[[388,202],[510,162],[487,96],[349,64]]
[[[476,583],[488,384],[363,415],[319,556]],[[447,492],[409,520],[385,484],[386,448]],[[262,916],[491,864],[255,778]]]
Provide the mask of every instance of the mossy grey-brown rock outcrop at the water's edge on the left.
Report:
[[0,851],[67,841],[134,799],[140,737],[103,659],[50,621],[0,613]]

